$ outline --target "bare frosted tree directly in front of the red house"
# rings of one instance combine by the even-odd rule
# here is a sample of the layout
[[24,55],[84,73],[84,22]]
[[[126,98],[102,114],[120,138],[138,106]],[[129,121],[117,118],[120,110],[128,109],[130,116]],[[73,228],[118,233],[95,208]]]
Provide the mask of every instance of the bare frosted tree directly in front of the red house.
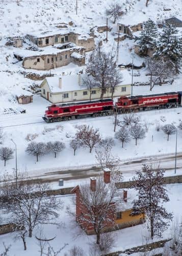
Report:
[[80,186],[80,211],[85,214],[77,218],[77,222],[84,227],[93,226],[96,233],[96,243],[100,244],[100,234],[108,227],[115,225],[116,186],[113,182],[106,184],[102,177],[96,182],[95,191],[90,189],[89,184]]

